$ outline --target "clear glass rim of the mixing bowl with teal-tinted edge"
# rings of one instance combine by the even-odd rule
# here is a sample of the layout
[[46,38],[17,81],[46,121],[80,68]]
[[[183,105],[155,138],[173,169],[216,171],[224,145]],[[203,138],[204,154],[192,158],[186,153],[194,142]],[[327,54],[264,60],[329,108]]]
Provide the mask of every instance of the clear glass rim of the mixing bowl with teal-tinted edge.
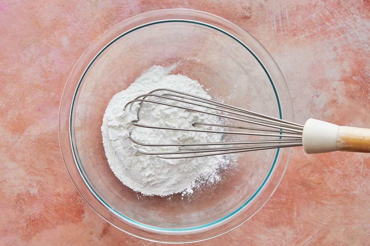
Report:
[[[164,9],[164,10],[154,10],[154,11],[149,11],[149,12],[146,12],[146,13],[142,13],[142,14],[139,14],[139,15],[135,15],[127,20],[124,20],[120,23],[118,23],[117,25],[113,26],[112,28],[115,28],[117,27],[118,25],[122,24],[123,22],[125,21],[128,21],[128,20],[132,20],[132,19],[135,19],[135,18],[140,18],[142,17],[143,15],[148,15],[148,14],[152,14],[152,13],[158,13],[159,11],[163,13],[163,11],[186,11],[186,12],[193,12],[193,13],[202,13],[202,14],[205,14],[205,15],[211,15],[213,17],[216,17],[218,18],[219,20],[222,20],[222,21],[226,21],[228,22],[229,24],[232,24],[232,25],[235,25],[233,24],[232,22],[222,18],[222,17],[218,17],[217,15],[214,15],[214,14],[210,14],[210,13],[207,13],[207,12],[204,12],[204,11],[199,11],[199,10],[188,10],[188,9]],[[156,232],[156,233],[169,233],[169,234],[172,234],[175,232],[174,235],[176,235],[176,233],[179,233],[179,234],[184,234],[185,233],[202,233],[203,231],[207,230],[208,228],[214,228],[215,226],[219,226],[221,222],[227,220],[227,219],[230,219],[231,217],[235,216],[236,214],[238,214],[240,211],[243,210],[243,208],[246,207],[246,205],[251,202],[253,199],[255,199],[255,197],[259,194],[259,192],[261,191],[261,189],[265,186],[266,182],[269,180],[269,177],[270,177],[270,174],[272,173],[272,171],[274,170],[275,168],[275,164],[276,164],[276,161],[279,157],[279,153],[280,153],[280,149],[277,149],[276,150],[276,154],[275,154],[275,157],[274,157],[274,160],[273,160],[273,163],[270,167],[270,170],[268,172],[268,174],[266,175],[265,179],[263,180],[263,182],[260,184],[260,186],[256,189],[255,193],[248,199],[246,200],[242,205],[239,206],[239,208],[237,208],[235,211],[232,211],[230,214],[222,217],[222,218],[219,218],[217,219],[216,221],[213,221],[213,222],[210,222],[208,224],[205,224],[205,225],[200,225],[200,226],[195,226],[195,227],[191,227],[191,228],[180,228],[180,229],[177,229],[177,228],[159,228],[159,227],[155,227],[155,226],[151,226],[151,225],[146,225],[146,224],[143,224],[141,222],[138,222],[138,221],[135,221],[133,219],[130,219],[128,218],[127,216],[123,215],[123,214],[120,214],[118,211],[116,211],[114,208],[112,208],[109,204],[107,204],[107,202],[104,201],[104,199],[102,199],[95,191],[94,189],[91,187],[90,183],[88,182],[88,177],[85,177],[84,175],[84,171],[83,171],[83,166],[80,165],[80,162],[79,162],[79,158],[78,158],[78,154],[76,155],[76,152],[74,151],[75,148],[74,148],[74,144],[73,144],[73,127],[72,127],[72,121],[73,121],[73,107],[74,107],[74,103],[75,103],[75,98],[76,98],[76,95],[78,93],[78,89],[84,79],[84,76],[85,74],[87,73],[88,69],[91,67],[91,65],[94,63],[94,61],[98,58],[99,55],[101,55],[102,52],[105,51],[105,49],[107,49],[111,44],[113,44],[115,41],[117,41],[118,39],[124,37],[125,35],[129,34],[130,32],[133,32],[135,30],[138,30],[140,28],[143,28],[143,27],[147,27],[147,26],[150,26],[150,25],[155,25],[155,24],[161,24],[161,23],[167,23],[167,22],[187,22],[187,23],[192,23],[192,24],[199,24],[199,25],[203,25],[203,26],[206,26],[206,27],[209,27],[209,28],[213,28],[214,30],[217,30],[217,31],[220,31],[222,32],[223,34],[225,35],[228,35],[229,37],[233,38],[235,41],[237,41],[240,45],[242,45],[244,48],[246,48],[253,56],[254,58],[259,62],[259,64],[262,66],[262,68],[265,70],[265,73],[266,75],[268,76],[270,82],[271,82],[271,85],[272,85],[272,88],[275,92],[275,96],[276,96],[276,100],[277,100],[277,105],[278,105],[278,109],[279,109],[279,117],[282,119],[283,118],[283,115],[282,115],[282,109],[281,109],[281,103],[280,103],[280,98],[279,98],[279,94],[277,92],[277,89],[276,89],[276,86],[275,86],[275,83],[273,82],[273,79],[272,77],[270,76],[270,73],[268,71],[268,69],[265,67],[265,65],[263,64],[263,62],[258,58],[258,56],[255,54],[255,52],[253,52],[249,47],[248,45],[244,44],[239,38],[235,37],[235,35],[229,33],[228,31],[225,31],[223,30],[222,28],[220,27],[217,27],[215,25],[212,25],[212,24],[208,24],[206,22],[202,22],[202,21],[196,21],[196,20],[187,20],[187,19],[181,19],[181,18],[173,18],[173,19],[165,19],[165,20],[157,20],[157,21],[151,21],[151,22],[147,22],[147,23],[144,23],[142,25],[139,25],[137,27],[134,27],[134,28],[131,28],[129,30],[126,30],[124,31],[122,34],[118,35],[117,37],[115,37],[114,39],[112,39],[108,44],[106,44],[102,49],[100,49],[100,51],[94,56],[94,58],[88,63],[88,66],[85,68],[83,74],[81,75],[79,81],[78,81],[78,84],[77,84],[77,87],[75,88],[75,91],[74,91],[74,95],[73,95],[73,99],[72,99],[72,102],[70,104],[70,113],[69,113],[69,139],[70,139],[70,150],[73,154],[73,159],[74,159],[74,162],[75,162],[75,167],[77,167],[77,170],[78,170],[78,173],[80,174],[80,177],[83,179],[83,183],[85,184],[85,186],[87,186],[88,190],[90,190],[91,194],[95,196],[95,198],[101,202],[101,204],[104,205],[104,207],[106,209],[108,209],[109,212],[115,214],[116,216],[119,216],[121,217],[121,219],[123,219],[124,221],[126,221],[128,224],[133,224],[132,226],[134,227],[143,227],[143,228],[140,228],[140,229],[144,229],[144,230],[149,230],[149,231],[152,231],[152,232]],[[235,25],[236,26],[236,25]],[[236,26],[237,28],[240,28],[239,26]],[[110,28],[110,30],[112,29]],[[243,30],[242,28],[240,28],[241,30]],[[109,30],[108,30],[109,31]],[[107,32],[108,32],[107,31]],[[246,32],[245,30],[243,30],[246,34],[250,35],[248,32]],[[104,32],[104,34],[107,34],[107,32]],[[102,34],[99,38],[101,38],[104,34]],[[250,35],[251,36],[251,35]],[[251,36],[252,37],[252,36]],[[99,39],[98,38],[98,39]],[[98,40],[97,39],[97,40]],[[254,38],[253,38],[254,39]],[[254,39],[256,42],[258,42],[256,39]],[[90,47],[92,45],[94,45],[96,41],[94,41],[87,49],[86,51],[83,53],[83,55],[81,55],[80,59],[84,56],[84,54],[89,51]],[[259,42],[258,42],[259,44]],[[260,46],[262,46],[261,44],[259,44]],[[95,48],[95,47],[94,47]],[[262,46],[263,48],[263,46]],[[264,49],[264,48],[263,48]],[[266,49],[265,49],[266,51]],[[266,51],[267,52],[267,51]],[[267,52],[268,53],[268,52]],[[269,55],[269,53],[268,53]],[[270,55],[269,55],[270,56]],[[273,58],[270,56],[270,58],[273,60]],[[66,87],[68,85],[68,82],[70,81],[70,78],[73,74],[73,72],[75,71],[75,67],[78,65],[78,63],[80,62],[80,59],[77,60],[70,76],[68,77],[68,80],[67,80],[67,83],[65,84],[65,87],[64,87],[64,91],[63,91],[63,95],[62,95],[62,98],[61,98],[61,104],[60,104],[60,108],[59,108],[59,115],[58,115],[58,138],[59,138],[59,142],[60,142],[60,149],[61,149],[61,153],[62,153],[62,157],[63,157],[63,160],[64,160],[64,164],[67,168],[67,171],[68,171],[68,174],[71,178],[71,180],[73,181],[77,191],[80,193],[81,197],[83,197],[83,199],[90,205],[90,207],[92,209],[94,209],[95,212],[98,213],[98,215],[100,215],[103,219],[105,219],[105,221],[107,221],[108,223],[114,225],[115,227],[117,227],[118,229],[121,229],[122,231],[125,231],[127,232],[128,234],[130,235],[134,235],[134,236],[137,236],[139,238],[143,238],[143,239],[147,239],[147,240],[152,240],[152,241],[156,241],[156,242],[168,242],[168,241],[164,241],[164,240],[156,240],[156,239],[153,239],[153,238],[147,238],[145,236],[140,236],[138,235],[137,233],[131,233],[129,232],[127,229],[122,229],[120,226],[118,225],[115,225],[114,223],[112,223],[110,220],[108,220],[105,216],[103,216],[99,211],[97,211],[98,209],[96,209],[96,206],[93,206],[91,205],[91,202],[88,201],[90,200],[89,197],[87,197],[85,194],[81,194],[80,192],[80,184],[76,184],[76,181],[73,179],[73,177],[71,177],[71,174],[70,174],[70,168],[67,167],[67,162],[65,161],[65,151],[62,150],[62,144],[61,144],[61,128],[60,128],[60,121],[62,119],[61,117],[61,110],[62,110],[62,101],[63,101],[63,98],[65,97],[65,90],[66,90]],[[275,62],[275,61],[274,61]],[[276,65],[276,63],[275,63]],[[276,65],[277,67],[277,65]],[[279,69],[277,67],[277,69]],[[280,70],[279,70],[280,71]],[[281,72],[280,72],[281,74]],[[281,74],[282,76],[282,74]],[[285,82],[285,80],[284,80]],[[286,84],[285,84],[286,85]],[[289,91],[288,91],[289,92]],[[291,101],[290,101],[291,103]],[[289,162],[289,158],[290,158],[290,153],[292,151],[292,148],[289,148],[289,156],[288,156],[288,159],[287,159],[287,163]],[[70,152],[70,153],[71,153]],[[286,167],[287,167],[287,163],[285,165],[285,169],[282,173],[282,176],[279,180],[279,182],[277,183],[275,189],[273,191],[276,190],[278,184],[280,183],[282,177],[283,177],[283,174],[285,173],[285,170],[286,170]],[[82,169],[81,169],[82,167]],[[273,192],[270,194],[270,196],[273,194]],[[269,197],[270,197],[269,196]],[[260,208],[262,208],[262,206],[268,201],[269,197],[266,199],[265,202],[263,202],[263,204],[260,206]],[[259,209],[260,209],[259,208]],[[248,218],[246,218],[245,220],[243,220],[241,223],[239,224],[236,224],[234,226],[232,226],[232,228],[228,228],[226,231],[223,231],[222,233],[218,233],[217,235],[215,236],[218,236],[218,235],[222,235],[223,233],[226,233],[234,228],[236,228],[238,225],[242,224],[243,222],[245,222],[246,220],[248,220],[250,217],[252,217],[259,209],[257,209],[253,214],[251,214]],[[208,237],[208,238],[203,238],[203,239],[197,239],[197,240],[187,240],[186,242],[195,242],[195,241],[199,241],[199,240],[205,240],[205,239],[209,239],[209,238],[213,238],[215,236],[211,236],[211,237]],[[184,242],[184,241],[182,241]],[[179,243],[182,243],[182,242],[179,242]]]

